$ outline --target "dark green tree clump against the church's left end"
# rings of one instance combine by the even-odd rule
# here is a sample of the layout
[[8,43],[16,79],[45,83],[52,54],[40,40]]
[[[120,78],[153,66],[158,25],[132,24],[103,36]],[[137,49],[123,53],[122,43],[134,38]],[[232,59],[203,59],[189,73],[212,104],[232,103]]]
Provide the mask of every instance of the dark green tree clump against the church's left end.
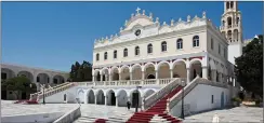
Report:
[[74,65],[71,65],[69,74],[70,80],[74,82],[91,81],[92,64],[83,60],[83,63],[80,65],[78,62],[76,62]]

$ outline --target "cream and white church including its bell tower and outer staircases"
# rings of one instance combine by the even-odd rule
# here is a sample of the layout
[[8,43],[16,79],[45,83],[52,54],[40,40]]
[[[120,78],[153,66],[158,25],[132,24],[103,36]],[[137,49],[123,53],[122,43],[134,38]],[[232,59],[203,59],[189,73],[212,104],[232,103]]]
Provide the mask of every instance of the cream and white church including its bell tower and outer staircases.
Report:
[[[224,2],[221,22],[217,28],[206,12],[160,22],[137,8],[119,33],[95,40],[93,81],[64,83],[48,91],[45,100],[116,107],[140,100],[147,110],[184,83],[189,111],[225,107],[239,91],[234,57],[243,44],[236,1]],[[181,94],[168,98],[164,110],[172,115],[180,114]],[[31,99],[42,98],[41,92],[31,94]]]

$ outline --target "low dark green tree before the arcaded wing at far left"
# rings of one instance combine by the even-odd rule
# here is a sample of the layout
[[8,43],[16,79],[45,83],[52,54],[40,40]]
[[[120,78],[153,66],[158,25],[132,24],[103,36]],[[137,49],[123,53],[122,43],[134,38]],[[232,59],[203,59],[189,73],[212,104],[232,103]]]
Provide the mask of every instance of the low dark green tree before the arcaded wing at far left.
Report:
[[[31,84],[31,86],[30,86]],[[37,86],[35,83],[31,83],[26,77],[15,77],[8,79],[1,84],[3,91],[12,91],[17,99],[21,99],[19,95],[25,92],[26,94],[31,94],[37,92]]]

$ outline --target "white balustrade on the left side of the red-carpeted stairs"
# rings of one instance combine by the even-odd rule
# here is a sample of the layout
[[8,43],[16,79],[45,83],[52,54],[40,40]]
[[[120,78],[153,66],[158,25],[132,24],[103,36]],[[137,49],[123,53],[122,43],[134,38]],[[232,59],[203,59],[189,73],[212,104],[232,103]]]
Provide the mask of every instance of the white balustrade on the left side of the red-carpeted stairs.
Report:
[[171,92],[177,84],[180,84],[182,78],[173,78],[169,84],[161,87],[158,92],[149,95],[145,100],[143,108],[148,109],[155,105],[161,97]]

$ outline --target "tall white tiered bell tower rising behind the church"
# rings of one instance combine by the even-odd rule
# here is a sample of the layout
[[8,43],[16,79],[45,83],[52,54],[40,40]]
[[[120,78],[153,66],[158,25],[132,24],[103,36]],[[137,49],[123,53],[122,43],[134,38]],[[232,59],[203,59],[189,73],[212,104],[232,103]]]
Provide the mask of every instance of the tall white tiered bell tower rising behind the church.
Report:
[[242,54],[242,23],[241,12],[237,1],[224,1],[224,13],[221,18],[221,32],[228,42],[228,60],[235,65],[235,57]]

